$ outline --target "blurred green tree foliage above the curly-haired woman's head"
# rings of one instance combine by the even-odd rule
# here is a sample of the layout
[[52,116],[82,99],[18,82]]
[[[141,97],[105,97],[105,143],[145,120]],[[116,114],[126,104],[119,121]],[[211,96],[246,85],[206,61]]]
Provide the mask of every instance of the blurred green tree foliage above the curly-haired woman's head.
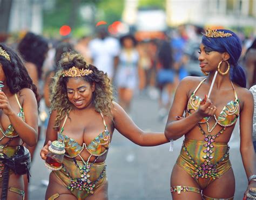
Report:
[[[84,5],[90,6],[92,9],[90,22],[86,22],[80,16],[79,9]],[[56,34],[60,26],[69,25],[73,33],[80,33],[83,28],[88,30],[88,27],[95,26],[100,20],[104,20],[110,25],[114,21],[120,20],[123,7],[123,0],[55,0],[55,6],[44,11],[44,32]]]

